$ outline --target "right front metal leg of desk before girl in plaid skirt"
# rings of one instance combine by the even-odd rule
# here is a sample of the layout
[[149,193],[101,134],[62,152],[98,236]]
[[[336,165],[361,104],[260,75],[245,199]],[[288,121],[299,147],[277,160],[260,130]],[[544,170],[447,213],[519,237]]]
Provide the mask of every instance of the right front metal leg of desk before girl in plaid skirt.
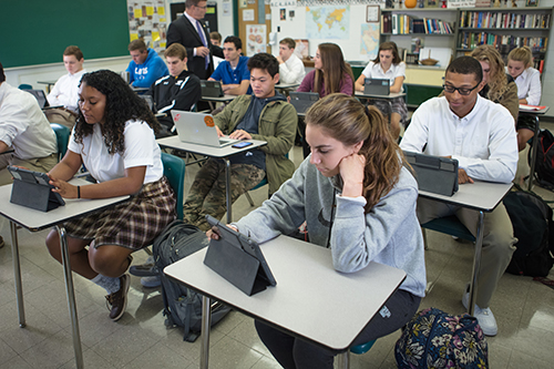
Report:
[[81,348],[81,336],[79,334],[79,319],[76,317],[75,290],[73,289],[73,277],[71,275],[71,260],[68,250],[68,238],[65,228],[61,225],[55,227],[60,236],[62,252],[63,276],[65,278],[65,293],[68,294],[68,307],[71,318],[71,330],[73,332],[73,350],[75,351],[75,363],[78,369],[83,368],[83,350]]

